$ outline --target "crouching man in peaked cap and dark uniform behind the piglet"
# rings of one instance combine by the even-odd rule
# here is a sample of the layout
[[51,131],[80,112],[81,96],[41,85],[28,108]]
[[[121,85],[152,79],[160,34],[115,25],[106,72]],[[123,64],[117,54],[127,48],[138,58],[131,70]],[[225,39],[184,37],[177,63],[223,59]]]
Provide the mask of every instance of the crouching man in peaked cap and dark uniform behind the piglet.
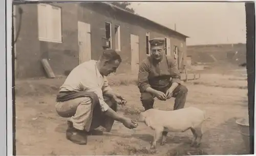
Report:
[[187,88],[180,84],[180,72],[175,61],[165,55],[164,38],[149,41],[151,56],[139,66],[138,88],[141,102],[146,110],[152,109],[154,97],[166,100],[175,97],[174,110],[185,105]]

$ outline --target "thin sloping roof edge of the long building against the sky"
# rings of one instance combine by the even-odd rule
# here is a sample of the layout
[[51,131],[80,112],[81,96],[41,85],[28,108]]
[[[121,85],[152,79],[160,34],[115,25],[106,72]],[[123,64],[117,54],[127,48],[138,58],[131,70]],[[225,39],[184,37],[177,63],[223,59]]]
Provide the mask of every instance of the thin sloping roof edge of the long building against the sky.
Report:
[[149,21],[149,22],[152,22],[152,23],[154,23],[154,24],[157,24],[157,25],[159,25],[160,27],[162,27],[162,28],[164,28],[164,29],[167,29],[168,31],[171,31],[171,32],[173,32],[173,33],[175,33],[175,34],[178,34],[178,35],[180,35],[180,36],[184,36],[184,37],[186,37],[186,38],[189,38],[188,36],[186,36],[186,35],[184,35],[184,34],[181,34],[181,33],[177,32],[177,31],[175,31],[175,30],[172,30],[172,29],[170,29],[170,28],[168,28],[168,27],[165,27],[164,25],[161,25],[161,24],[159,24],[159,23],[157,23],[157,22],[155,22],[155,21],[153,21],[153,20],[147,19],[147,18],[142,17],[142,16],[140,16],[140,15],[138,15],[138,14],[135,14],[135,13],[132,13],[132,12],[130,12],[130,11],[127,11],[127,10],[125,10],[125,9],[123,9],[123,8],[120,8],[120,7],[118,7],[118,6],[115,6],[115,5],[113,5],[113,4],[109,3],[109,2],[101,2],[101,3],[103,3],[103,4],[105,4],[105,5],[108,5],[108,6],[112,7],[112,8],[118,9],[118,10],[120,10],[120,11],[124,11],[124,12],[126,12],[126,13],[129,13],[129,14],[131,14],[131,15],[137,16],[137,17],[139,17],[139,18],[142,18],[142,19],[147,20],[147,21]]

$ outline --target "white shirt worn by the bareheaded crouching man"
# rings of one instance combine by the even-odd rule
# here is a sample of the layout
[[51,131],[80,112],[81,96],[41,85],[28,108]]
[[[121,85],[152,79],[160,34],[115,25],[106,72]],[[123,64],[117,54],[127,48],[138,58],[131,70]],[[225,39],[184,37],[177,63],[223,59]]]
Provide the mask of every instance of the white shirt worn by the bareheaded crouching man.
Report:
[[101,111],[105,112],[109,106],[103,99],[103,93],[112,90],[105,76],[99,73],[95,60],[83,62],[75,67],[68,75],[60,91],[91,91],[97,94]]

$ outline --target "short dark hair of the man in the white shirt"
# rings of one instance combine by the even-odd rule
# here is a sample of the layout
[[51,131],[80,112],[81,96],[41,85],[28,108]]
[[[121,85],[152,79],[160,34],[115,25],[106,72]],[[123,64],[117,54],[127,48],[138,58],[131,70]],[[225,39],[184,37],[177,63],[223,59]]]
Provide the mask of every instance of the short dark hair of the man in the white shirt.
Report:
[[100,56],[100,60],[108,61],[108,62],[114,62],[118,60],[119,63],[122,62],[122,59],[119,54],[117,54],[116,50],[114,49],[104,49],[103,53]]

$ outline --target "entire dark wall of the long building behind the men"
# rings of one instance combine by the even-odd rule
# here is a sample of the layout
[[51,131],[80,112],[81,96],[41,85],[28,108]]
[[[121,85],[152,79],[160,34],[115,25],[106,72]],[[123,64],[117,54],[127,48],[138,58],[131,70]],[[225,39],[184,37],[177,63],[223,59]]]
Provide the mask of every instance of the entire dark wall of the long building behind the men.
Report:
[[[112,46],[115,47],[114,25],[120,25],[121,51],[123,62],[117,73],[131,71],[130,35],[139,36],[139,60],[146,58],[146,33],[150,39],[168,37],[173,56],[174,45],[186,52],[185,38],[175,36],[156,24],[143,21],[141,18],[123,11],[113,10],[108,6],[89,3],[55,3],[61,7],[62,43],[43,42],[38,40],[37,6],[36,4],[21,5],[24,10],[22,29],[16,43],[17,78],[45,76],[40,60],[48,58],[56,75],[64,74],[78,65],[78,21],[91,24],[92,59],[97,60],[102,53],[102,37],[105,37],[105,21],[112,23]],[[108,11],[106,11],[108,10]],[[64,18],[65,17],[65,18]],[[18,20],[16,23],[18,25]],[[183,43],[183,47],[181,47]],[[28,57],[29,56],[29,57]]]

